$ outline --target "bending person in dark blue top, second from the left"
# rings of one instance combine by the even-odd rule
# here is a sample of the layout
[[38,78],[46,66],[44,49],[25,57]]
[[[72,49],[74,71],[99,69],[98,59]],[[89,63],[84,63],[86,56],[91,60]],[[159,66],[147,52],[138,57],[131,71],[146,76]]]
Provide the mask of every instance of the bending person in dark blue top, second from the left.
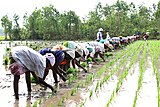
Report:
[[[55,60],[55,63],[54,65],[52,65],[52,68],[51,68],[55,83],[59,82],[57,78],[57,74],[62,78],[63,81],[66,81],[67,79],[64,76],[66,73],[59,67],[61,62],[64,60],[65,53],[62,50],[51,51],[51,49],[49,48],[44,48],[40,50],[39,53],[44,56],[50,56],[50,58]],[[46,70],[43,76],[43,80],[45,80],[48,73],[49,73],[49,70]]]

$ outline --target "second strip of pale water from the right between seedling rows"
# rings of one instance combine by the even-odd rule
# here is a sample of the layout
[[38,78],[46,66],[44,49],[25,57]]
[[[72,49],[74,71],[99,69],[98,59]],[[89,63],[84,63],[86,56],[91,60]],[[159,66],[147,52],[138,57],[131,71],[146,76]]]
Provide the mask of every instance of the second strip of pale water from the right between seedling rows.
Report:
[[134,64],[128,72],[129,74],[123,81],[122,87],[110,107],[133,106],[139,77],[139,63]]

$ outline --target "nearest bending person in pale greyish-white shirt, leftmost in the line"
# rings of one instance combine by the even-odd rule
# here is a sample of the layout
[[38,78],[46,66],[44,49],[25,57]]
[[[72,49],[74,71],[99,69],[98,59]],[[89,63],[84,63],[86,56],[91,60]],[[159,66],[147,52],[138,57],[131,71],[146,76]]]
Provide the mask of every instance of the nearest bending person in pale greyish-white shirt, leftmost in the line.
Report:
[[28,92],[31,92],[30,73],[35,79],[46,87],[49,87],[52,92],[53,87],[43,80],[44,72],[52,67],[54,61],[42,56],[38,52],[27,46],[16,46],[11,49],[9,70],[14,75],[13,87],[15,98],[19,99],[18,83],[20,75],[25,73]]

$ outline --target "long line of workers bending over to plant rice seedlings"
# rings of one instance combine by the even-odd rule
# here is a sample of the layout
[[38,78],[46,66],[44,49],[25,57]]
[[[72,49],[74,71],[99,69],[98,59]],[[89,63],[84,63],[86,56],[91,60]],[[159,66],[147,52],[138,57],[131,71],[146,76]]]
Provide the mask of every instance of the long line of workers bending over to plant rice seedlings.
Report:
[[13,47],[10,54],[11,64],[9,69],[14,75],[13,88],[15,98],[19,99],[18,87],[20,75],[22,74],[25,74],[28,92],[31,92],[30,74],[40,84],[55,92],[56,90],[45,82],[45,78],[50,71],[53,73],[55,83],[60,82],[60,79],[65,82],[67,80],[67,70],[71,66],[74,68],[77,66],[82,68],[84,72],[87,72],[87,69],[80,64],[86,61],[87,58],[90,57],[94,63],[99,64],[95,58],[99,57],[102,61],[105,61],[105,52],[117,49],[120,45],[127,45],[136,40],[136,36],[110,38],[108,33],[106,39],[103,39],[102,32],[103,29],[100,28],[97,33],[97,41],[66,41],[51,48],[46,47],[38,52],[27,46]]

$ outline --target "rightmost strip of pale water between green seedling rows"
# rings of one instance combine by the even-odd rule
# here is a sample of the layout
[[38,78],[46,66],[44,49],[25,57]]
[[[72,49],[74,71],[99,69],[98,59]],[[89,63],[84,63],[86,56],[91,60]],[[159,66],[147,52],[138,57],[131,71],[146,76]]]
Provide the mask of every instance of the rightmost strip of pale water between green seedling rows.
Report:
[[[148,57],[148,67],[144,72],[143,84],[137,100],[137,107],[158,107],[157,80],[153,71],[151,58]],[[146,103],[147,102],[147,103]]]

